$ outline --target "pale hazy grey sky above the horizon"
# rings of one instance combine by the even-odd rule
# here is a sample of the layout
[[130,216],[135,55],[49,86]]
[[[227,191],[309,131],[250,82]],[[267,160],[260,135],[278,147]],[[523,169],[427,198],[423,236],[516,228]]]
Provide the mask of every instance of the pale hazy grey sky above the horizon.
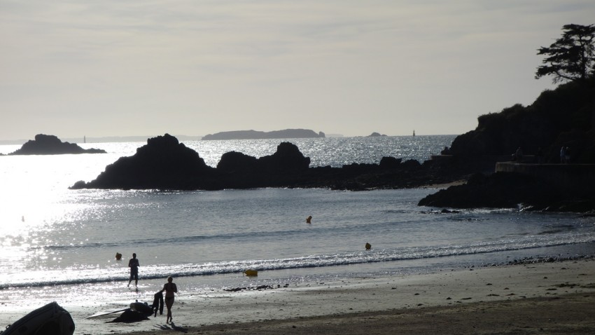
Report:
[[593,0],[0,0],[0,139],[461,134]]

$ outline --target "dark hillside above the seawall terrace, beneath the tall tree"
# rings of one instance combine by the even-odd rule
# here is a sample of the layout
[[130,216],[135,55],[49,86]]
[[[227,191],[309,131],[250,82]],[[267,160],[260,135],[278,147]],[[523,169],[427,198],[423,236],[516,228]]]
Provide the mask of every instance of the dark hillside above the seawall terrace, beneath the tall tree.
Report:
[[544,163],[559,163],[561,146],[570,146],[575,163],[595,163],[595,78],[545,90],[524,107],[515,104],[479,116],[475,130],[457,136],[449,153],[461,157],[510,156],[542,150]]

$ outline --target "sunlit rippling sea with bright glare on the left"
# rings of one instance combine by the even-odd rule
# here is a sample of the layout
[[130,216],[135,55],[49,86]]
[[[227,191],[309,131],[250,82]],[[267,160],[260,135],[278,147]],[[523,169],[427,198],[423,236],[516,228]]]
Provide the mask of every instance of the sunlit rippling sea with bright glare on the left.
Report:
[[[311,158],[311,167],[340,167],[379,163],[384,156],[428,160],[454,137],[183,144],[216,166],[228,151],[261,157],[292,142]],[[69,189],[145,144],[79,143],[104,154],[0,156],[0,310],[50,301],[151,303],[169,275],[181,294],[202,294],[595,254],[594,217],[418,206],[440,189],[436,185],[377,191]],[[19,148],[3,145],[0,153]],[[141,265],[134,288],[134,281],[127,287],[133,253]],[[247,269],[258,276],[244,275]]]

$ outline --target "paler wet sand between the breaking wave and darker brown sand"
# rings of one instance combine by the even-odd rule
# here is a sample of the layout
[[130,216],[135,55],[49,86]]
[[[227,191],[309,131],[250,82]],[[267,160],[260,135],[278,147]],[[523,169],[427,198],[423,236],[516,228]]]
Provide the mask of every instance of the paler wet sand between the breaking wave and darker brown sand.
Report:
[[[295,317],[370,313],[448,307],[465,303],[518,301],[519,299],[595,292],[594,259],[577,259],[483,268],[438,271],[422,275],[393,275],[337,282],[316,282],[272,289],[183,292],[176,298],[176,327],[193,331],[213,324],[236,324]],[[120,301],[90,306],[61,305],[76,323],[76,334],[114,334],[171,329],[165,315],[130,324],[106,323],[118,314],[95,319],[85,317],[98,310],[122,308]],[[16,306],[15,306],[16,307]],[[0,305],[0,324],[22,317],[18,308]]]

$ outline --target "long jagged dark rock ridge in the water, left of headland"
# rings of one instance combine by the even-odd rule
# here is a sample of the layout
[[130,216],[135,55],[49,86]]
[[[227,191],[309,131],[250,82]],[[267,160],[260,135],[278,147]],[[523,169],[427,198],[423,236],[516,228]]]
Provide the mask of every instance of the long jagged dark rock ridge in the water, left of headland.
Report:
[[216,190],[260,187],[321,187],[328,189],[396,189],[451,182],[440,165],[385,157],[379,164],[309,167],[295,144],[282,142],[270,156],[254,158],[231,151],[209,167],[199,154],[171,135],[148,139],[134,156],[108,165],[92,182],[71,189]]

